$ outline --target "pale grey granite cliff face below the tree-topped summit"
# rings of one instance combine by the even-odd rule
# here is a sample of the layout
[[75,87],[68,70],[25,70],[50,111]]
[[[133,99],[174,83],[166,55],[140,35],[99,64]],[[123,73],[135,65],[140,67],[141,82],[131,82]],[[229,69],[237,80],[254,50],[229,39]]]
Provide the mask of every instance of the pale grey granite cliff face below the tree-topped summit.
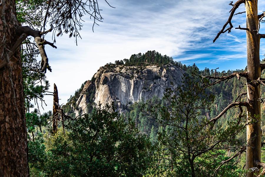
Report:
[[95,88],[95,104],[114,103],[123,111],[132,103],[148,100],[153,96],[162,98],[166,88],[178,86],[183,71],[174,65],[165,66],[115,66],[100,67],[95,73],[95,82],[87,81],[77,100],[79,110],[76,115],[85,113],[87,98],[85,93]]

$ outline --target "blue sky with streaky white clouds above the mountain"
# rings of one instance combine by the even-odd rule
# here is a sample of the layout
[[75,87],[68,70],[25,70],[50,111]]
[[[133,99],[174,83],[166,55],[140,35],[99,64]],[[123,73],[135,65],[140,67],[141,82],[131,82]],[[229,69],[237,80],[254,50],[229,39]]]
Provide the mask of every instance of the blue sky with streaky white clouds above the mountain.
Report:
[[[67,34],[56,38],[57,49],[45,47],[52,72],[47,72],[50,91],[56,83],[59,104],[67,103],[81,84],[90,80],[100,66],[115,60],[130,58],[132,54],[156,50],[172,56],[175,61],[196,65],[200,69],[219,71],[246,67],[246,14],[233,17],[233,30],[213,39],[228,19],[230,0],[98,0],[103,22],[94,27],[85,16],[82,39]],[[259,14],[265,2],[259,2]],[[236,12],[244,12],[244,4]],[[265,33],[261,30],[260,33]],[[47,35],[46,40],[51,41]],[[261,40],[261,59],[265,54]],[[263,57],[263,58],[262,58]],[[45,96],[44,110],[52,110],[52,96]]]

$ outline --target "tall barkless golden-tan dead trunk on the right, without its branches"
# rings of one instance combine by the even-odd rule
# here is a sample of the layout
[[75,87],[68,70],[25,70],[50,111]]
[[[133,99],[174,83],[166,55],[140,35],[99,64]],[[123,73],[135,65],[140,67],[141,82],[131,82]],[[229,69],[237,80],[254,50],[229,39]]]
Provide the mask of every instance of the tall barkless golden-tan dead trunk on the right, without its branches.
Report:
[[[260,86],[256,81],[261,77],[261,68],[259,60],[260,37],[257,34],[258,28],[258,1],[246,1],[246,31],[247,38],[247,98],[249,106],[247,107],[247,120],[254,122],[247,125],[247,146],[246,146],[246,171],[249,168],[257,167],[256,162],[261,160],[261,111],[260,111]],[[252,83],[250,83],[252,82]],[[255,172],[256,173],[256,172]],[[247,177],[256,176],[254,172],[247,172]]]

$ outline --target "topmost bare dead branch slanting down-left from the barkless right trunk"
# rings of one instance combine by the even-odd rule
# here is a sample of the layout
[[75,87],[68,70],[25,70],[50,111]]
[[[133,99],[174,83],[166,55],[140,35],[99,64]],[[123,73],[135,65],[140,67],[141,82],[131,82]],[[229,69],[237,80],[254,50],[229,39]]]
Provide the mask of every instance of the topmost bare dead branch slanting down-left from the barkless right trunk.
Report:
[[[233,16],[234,16],[234,13],[236,12],[236,9],[240,6],[240,4],[245,3],[245,1],[246,1],[246,0],[238,0],[238,1],[236,1],[235,4],[232,4],[233,2],[231,2],[231,3],[229,4],[229,5],[233,5],[232,9],[230,10],[230,13],[231,13],[231,14],[230,14],[230,16],[228,17],[227,22],[223,25],[223,28],[221,29],[221,31],[219,31],[218,34],[216,35],[216,37],[214,38],[213,42],[215,42],[215,41],[217,40],[217,38],[218,38],[222,33],[225,33],[225,32],[227,32],[227,31],[228,31],[228,33],[231,32],[231,29],[233,28],[233,25],[232,25],[231,20],[232,20],[232,18],[233,18]],[[228,28],[226,29],[226,26],[227,26],[228,24],[230,25],[230,27],[228,27]],[[225,29],[226,29],[226,30],[225,30]]]

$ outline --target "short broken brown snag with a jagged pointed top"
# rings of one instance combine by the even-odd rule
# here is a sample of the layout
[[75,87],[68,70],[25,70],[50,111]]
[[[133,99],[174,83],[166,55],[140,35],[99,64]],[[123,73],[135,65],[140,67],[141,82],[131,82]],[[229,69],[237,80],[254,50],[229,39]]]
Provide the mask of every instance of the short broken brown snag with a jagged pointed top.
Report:
[[58,97],[58,90],[57,86],[54,83],[54,92],[53,92],[53,112],[52,112],[52,131],[53,133],[57,132],[57,124],[58,124],[58,104],[59,104],[59,97]]

